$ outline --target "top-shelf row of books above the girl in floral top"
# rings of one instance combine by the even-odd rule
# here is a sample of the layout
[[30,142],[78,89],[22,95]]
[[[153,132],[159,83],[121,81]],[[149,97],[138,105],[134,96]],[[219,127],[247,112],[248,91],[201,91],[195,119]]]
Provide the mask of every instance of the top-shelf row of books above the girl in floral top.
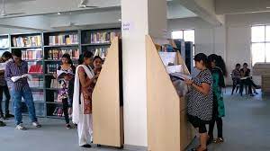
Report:
[[49,46],[78,44],[78,35],[49,36]]

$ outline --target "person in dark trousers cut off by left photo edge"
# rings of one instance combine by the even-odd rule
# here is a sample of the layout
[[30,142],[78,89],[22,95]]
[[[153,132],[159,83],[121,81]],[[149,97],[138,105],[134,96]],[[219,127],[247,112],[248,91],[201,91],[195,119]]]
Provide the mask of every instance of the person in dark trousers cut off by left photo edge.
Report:
[[[9,59],[13,58],[12,54],[9,51],[5,51],[2,55],[2,58],[0,58],[0,63],[6,64]],[[5,102],[4,102],[4,111],[2,110],[2,101],[3,101],[3,93],[5,96]],[[10,93],[6,84],[6,81],[4,79],[4,69],[0,70],[0,118],[2,119],[8,119],[13,118],[14,115],[11,115],[9,113],[9,101],[10,101]]]

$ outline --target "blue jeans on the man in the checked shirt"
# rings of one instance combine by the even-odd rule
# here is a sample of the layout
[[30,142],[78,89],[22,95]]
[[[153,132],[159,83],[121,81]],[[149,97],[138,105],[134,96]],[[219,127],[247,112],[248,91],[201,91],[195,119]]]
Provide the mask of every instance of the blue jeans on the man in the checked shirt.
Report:
[[29,117],[32,122],[38,121],[36,117],[35,105],[32,99],[31,89],[23,88],[21,91],[12,90],[12,97],[14,101],[14,115],[15,115],[15,124],[19,125],[23,123],[23,115],[22,115],[22,97],[24,102],[27,105]]

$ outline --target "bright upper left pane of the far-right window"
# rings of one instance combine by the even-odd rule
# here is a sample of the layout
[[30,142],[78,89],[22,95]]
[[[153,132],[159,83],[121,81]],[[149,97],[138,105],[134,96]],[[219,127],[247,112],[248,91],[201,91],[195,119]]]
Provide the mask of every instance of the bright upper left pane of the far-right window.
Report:
[[251,28],[251,40],[252,42],[264,42],[266,34],[266,26],[253,26]]

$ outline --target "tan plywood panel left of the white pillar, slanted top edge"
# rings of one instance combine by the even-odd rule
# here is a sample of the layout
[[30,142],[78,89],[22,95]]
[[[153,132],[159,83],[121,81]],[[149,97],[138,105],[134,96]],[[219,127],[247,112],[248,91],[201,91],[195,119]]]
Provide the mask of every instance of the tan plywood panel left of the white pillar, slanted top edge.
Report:
[[120,43],[112,40],[93,93],[94,144],[123,146]]

